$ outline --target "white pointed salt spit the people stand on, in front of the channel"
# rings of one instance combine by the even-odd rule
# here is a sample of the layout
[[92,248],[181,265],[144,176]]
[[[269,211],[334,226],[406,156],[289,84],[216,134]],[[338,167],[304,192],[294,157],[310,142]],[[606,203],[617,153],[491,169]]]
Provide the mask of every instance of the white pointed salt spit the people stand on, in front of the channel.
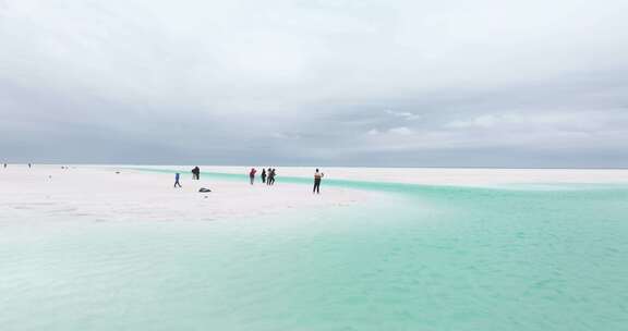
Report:
[[[202,169],[203,170],[203,169]],[[120,172],[120,173],[117,173]],[[0,170],[0,219],[95,221],[202,220],[258,217],[288,210],[343,207],[366,203],[377,194],[281,183],[266,186],[182,172],[182,188],[173,175],[108,167],[10,166]],[[200,193],[201,187],[212,193]]]

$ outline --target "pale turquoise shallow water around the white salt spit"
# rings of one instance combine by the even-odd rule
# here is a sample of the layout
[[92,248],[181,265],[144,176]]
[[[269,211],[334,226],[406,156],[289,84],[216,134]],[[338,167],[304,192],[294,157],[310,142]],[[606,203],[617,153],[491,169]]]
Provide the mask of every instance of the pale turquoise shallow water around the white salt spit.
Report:
[[628,187],[325,184],[395,198],[214,222],[3,224],[0,330],[628,327]]

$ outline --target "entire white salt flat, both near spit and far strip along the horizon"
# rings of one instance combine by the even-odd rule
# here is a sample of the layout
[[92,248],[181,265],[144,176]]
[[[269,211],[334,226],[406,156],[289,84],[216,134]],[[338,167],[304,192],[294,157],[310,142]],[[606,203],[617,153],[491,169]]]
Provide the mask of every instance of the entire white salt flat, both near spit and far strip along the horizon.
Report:
[[[311,186],[282,183],[282,176],[311,179],[314,168],[278,169],[276,186],[249,185],[245,167],[201,166],[202,172],[242,175],[242,181],[202,175],[192,181],[192,167],[144,166],[180,171],[183,188],[173,188],[173,175],[141,171],[133,166],[10,164],[0,169],[0,219],[220,220],[259,217],[313,208],[381,203],[383,193],[325,185],[314,196]],[[65,168],[65,166],[63,166]],[[116,172],[120,173],[117,174]],[[628,183],[628,170],[569,169],[377,169],[323,168],[325,179],[424,185],[491,186],[536,183]],[[212,193],[198,193],[208,187]]]

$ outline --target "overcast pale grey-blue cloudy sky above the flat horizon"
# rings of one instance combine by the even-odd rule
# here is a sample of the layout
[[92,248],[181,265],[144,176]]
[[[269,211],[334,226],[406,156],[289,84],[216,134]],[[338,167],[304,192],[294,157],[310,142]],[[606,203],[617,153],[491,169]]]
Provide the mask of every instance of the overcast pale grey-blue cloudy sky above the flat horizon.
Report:
[[628,167],[626,0],[0,0],[0,160]]

